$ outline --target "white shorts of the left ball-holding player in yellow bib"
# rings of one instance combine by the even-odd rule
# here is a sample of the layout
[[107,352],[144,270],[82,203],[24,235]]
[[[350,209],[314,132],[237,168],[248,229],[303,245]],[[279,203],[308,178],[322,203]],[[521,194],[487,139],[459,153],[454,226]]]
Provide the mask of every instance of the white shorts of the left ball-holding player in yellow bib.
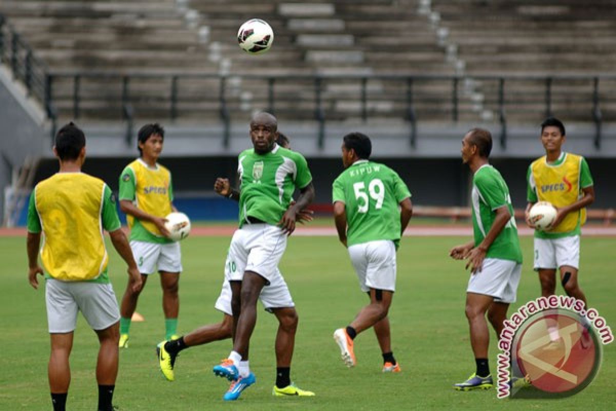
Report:
[[143,241],[131,241],[132,255],[141,274],[152,274],[156,271],[182,272],[182,253],[180,244],[156,244]]

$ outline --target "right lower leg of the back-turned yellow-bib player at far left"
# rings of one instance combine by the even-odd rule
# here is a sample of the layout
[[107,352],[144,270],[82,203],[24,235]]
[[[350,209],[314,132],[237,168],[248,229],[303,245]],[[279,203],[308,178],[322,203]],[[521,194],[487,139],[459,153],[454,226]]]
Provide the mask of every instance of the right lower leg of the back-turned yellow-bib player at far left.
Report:
[[99,411],[113,411],[113,391],[118,376],[118,341],[120,325],[116,322],[104,330],[95,330],[99,337],[99,357],[96,362],[96,381],[99,385]]

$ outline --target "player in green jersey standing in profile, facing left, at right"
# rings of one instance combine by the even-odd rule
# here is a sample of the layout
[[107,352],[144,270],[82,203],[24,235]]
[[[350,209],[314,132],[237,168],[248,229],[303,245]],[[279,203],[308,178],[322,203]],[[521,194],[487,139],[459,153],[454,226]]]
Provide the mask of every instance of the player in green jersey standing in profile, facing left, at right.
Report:
[[468,259],[471,278],[466,289],[466,318],[476,371],[458,391],[489,389],[493,386],[488,365],[490,332],[485,315],[498,337],[503,330],[509,304],[516,301],[522,272],[522,250],[517,238],[516,220],[509,187],[501,174],[488,162],[492,151],[489,131],[472,129],[462,140],[462,161],[472,177],[472,227],[474,241],[452,248],[454,259]]

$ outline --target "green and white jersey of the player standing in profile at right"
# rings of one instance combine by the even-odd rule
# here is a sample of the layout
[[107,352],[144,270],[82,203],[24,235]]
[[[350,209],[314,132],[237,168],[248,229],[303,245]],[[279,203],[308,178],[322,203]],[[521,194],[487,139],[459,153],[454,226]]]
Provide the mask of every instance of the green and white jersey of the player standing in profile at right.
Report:
[[498,258],[522,262],[522,250],[517,238],[516,219],[509,196],[509,187],[503,176],[493,166],[481,166],[472,177],[472,228],[475,246],[479,245],[492,228],[496,218],[496,209],[507,206],[511,219],[496,236],[488,252],[487,258]]

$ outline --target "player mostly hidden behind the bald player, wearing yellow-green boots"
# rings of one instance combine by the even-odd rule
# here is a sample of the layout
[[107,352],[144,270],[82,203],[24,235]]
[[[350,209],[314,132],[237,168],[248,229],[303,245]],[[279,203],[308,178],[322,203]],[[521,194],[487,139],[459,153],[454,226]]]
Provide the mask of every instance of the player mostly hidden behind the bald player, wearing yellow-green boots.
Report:
[[[278,134],[277,144],[285,149],[290,149],[289,139],[282,133]],[[231,187],[228,182],[225,182],[224,185],[225,187],[219,193],[224,197],[229,197]],[[237,196],[233,198],[235,198],[236,201],[239,200]],[[298,221],[312,220],[311,214],[312,211],[302,210],[298,215]],[[225,269],[230,268],[229,264],[232,264],[232,262],[225,262]],[[278,333],[275,343],[277,373],[272,394],[274,396],[313,396],[314,393],[298,388],[293,385],[290,380],[291,357],[293,356],[295,332],[298,327],[298,314],[282,274],[277,274],[276,277],[279,281],[276,284],[270,283],[270,285],[263,287],[261,295],[259,295],[259,299],[261,299],[261,303],[265,307],[265,310],[276,315],[278,319]],[[163,372],[167,380],[174,380],[173,368],[177,359],[177,354],[180,351],[232,337],[233,311],[231,307],[231,296],[231,286],[229,285],[229,281],[225,279],[222,283],[221,295],[214,305],[217,310],[222,312],[221,322],[204,325],[187,335],[181,336],[177,340],[163,341],[158,344],[159,365],[161,372]],[[291,346],[291,352],[288,352],[287,345]]]

